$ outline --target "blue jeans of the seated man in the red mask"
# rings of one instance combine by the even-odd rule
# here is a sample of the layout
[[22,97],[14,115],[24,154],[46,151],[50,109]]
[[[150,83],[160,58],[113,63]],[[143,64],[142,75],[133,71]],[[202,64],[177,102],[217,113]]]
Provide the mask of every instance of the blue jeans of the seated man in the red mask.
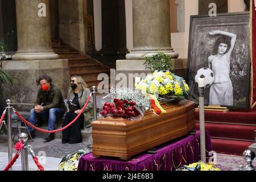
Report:
[[[30,118],[27,120],[32,125],[35,125],[36,118],[49,118],[48,119],[48,130],[54,130],[55,122],[57,118],[63,117],[65,114],[65,110],[61,109],[59,107],[49,109],[49,111],[40,111],[40,113],[36,113],[34,109],[31,109],[30,111]],[[34,131],[34,129],[30,126],[28,126],[28,131]]]

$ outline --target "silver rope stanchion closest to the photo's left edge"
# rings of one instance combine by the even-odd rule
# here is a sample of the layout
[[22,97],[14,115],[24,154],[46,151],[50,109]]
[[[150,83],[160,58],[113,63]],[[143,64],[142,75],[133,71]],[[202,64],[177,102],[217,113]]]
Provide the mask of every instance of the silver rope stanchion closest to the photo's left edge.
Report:
[[[12,139],[11,139],[11,110],[13,107],[11,107],[11,100],[6,100],[7,104],[7,122],[8,122],[8,158],[9,162],[11,162],[11,159],[13,159],[13,145],[12,145]],[[12,168],[9,169],[11,171]]]

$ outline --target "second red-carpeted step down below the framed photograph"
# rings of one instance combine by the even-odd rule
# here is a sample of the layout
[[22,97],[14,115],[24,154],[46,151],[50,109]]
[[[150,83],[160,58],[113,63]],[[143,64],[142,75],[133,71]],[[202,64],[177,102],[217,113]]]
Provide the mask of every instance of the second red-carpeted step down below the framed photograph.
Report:
[[[196,122],[196,130],[200,129],[200,123]],[[205,123],[205,130],[209,131],[210,137],[254,140],[256,126],[228,125]]]

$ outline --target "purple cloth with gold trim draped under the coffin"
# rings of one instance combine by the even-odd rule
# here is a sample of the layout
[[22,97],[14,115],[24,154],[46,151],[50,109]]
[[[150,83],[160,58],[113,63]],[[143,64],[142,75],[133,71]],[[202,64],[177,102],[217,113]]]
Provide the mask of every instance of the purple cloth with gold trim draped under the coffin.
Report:
[[[133,156],[130,160],[118,158],[95,158],[92,153],[84,155],[79,160],[78,171],[172,171],[183,165],[199,162],[200,131],[196,135],[172,140],[156,147],[156,154],[141,154]],[[207,160],[212,151],[212,143],[208,131],[205,132],[205,149]]]

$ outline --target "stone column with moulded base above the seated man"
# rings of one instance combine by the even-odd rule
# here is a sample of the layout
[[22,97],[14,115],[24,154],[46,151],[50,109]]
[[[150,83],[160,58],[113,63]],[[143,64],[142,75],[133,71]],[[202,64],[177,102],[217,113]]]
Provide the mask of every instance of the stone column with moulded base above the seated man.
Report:
[[[44,6],[39,6],[44,3]],[[38,12],[46,11],[46,16]],[[13,60],[48,60],[59,56],[51,47],[49,0],[16,0],[18,51]]]

